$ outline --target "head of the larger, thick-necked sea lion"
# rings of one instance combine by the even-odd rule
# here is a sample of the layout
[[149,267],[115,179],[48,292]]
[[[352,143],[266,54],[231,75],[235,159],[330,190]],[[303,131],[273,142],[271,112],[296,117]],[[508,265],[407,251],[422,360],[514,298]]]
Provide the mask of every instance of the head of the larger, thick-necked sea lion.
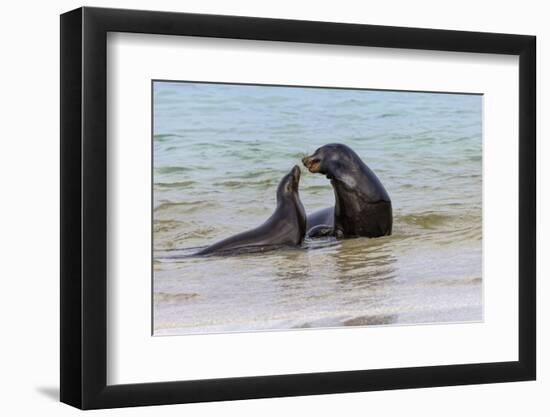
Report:
[[358,160],[360,161],[359,157],[350,147],[341,143],[330,143],[304,157],[302,163],[309,172],[324,174],[328,179],[349,182],[351,177],[346,177],[354,170]]

